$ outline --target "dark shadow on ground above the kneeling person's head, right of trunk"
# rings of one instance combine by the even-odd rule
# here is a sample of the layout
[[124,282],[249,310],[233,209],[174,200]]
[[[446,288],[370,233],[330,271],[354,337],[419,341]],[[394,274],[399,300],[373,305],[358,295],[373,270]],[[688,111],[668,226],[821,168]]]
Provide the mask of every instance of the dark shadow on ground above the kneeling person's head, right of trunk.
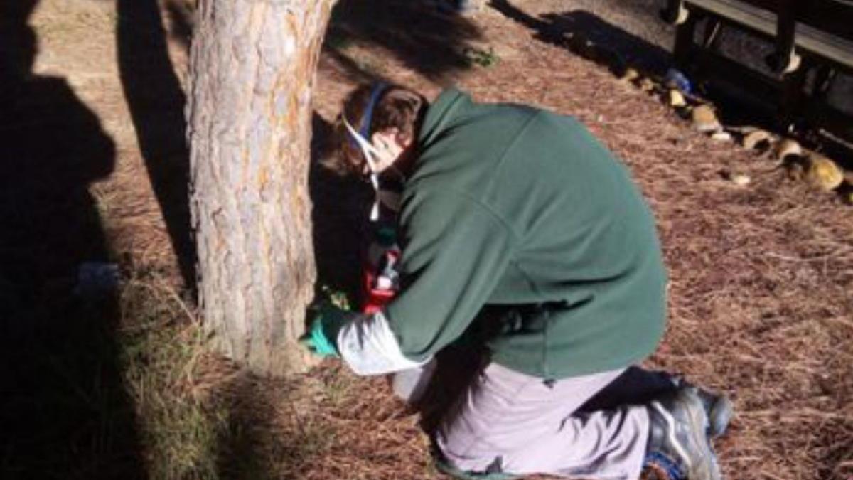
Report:
[[341,0],[332,10],[323,48],[346,56],[351,44],[378,46],[406,67],[439,80],[470,67],[463,50],[479,38],[471,20],[442,13],[427,2]]

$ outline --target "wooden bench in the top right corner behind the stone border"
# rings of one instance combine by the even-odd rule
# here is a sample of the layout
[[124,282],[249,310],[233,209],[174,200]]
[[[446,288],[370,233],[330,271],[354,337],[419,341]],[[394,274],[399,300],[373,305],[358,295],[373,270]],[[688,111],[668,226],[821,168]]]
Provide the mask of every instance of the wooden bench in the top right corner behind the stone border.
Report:
[[[836,73],[853,72],[853,0],[668,0],[664,18],[677,26],[674,56],[682,70],[699,69],[711,76],[725,73],[729,79],[734,73],[743,85],[769,85],[780,120],[820,117],[853,140],[853,121],[825,102]],[[705,32],[697,44],[696,27],[703,19]],[[720,55],[717,40],[722,25],[772,41],[775,53],[766,59],[772,74],[759,74]],[[806,93],[809,70],[816,73]]]

